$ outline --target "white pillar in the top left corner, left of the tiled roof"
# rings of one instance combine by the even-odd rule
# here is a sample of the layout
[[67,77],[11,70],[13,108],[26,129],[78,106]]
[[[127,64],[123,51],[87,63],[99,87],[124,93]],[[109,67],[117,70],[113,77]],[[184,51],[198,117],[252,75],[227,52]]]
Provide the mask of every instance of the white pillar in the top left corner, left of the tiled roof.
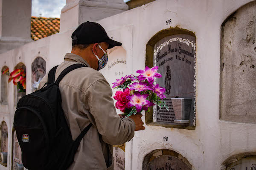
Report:
[[31,42],[31,0],[0,0],[0,53]]

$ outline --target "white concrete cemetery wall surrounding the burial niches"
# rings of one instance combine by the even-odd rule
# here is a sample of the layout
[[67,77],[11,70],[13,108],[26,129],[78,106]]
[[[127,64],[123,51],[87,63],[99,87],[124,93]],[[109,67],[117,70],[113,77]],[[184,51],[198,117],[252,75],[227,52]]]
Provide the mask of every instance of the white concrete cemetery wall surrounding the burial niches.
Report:
[[[192,170],[221,170],[222,162],[228,157],[256,150],[255,124],[219,119],[221,24],[239,7],[251,1],[157,0],[99,21],[110,37],[123,43],[127,74],[136,74],[138,69],[145,68],[146,44],[158,31],[178,26],[196,35],[195,130],[146,126],[144,131],[136,132],[134,138],[126,143],[126,170],[141,170],[144,157],[156,149],[166,148],[180,153],[188,159]],[[172,19],[172,24],[166,26],[169,19]],[[23,62],[27,68],[29,94],[31,63],[36,57],[42,57],[49,71],[63,61],[64,54],[71,51],[70,37],[73,31],[55,34],[0,54],[0,67],[7,65],[12,71],[17,63]],[[0,122],[4,119],[9,126],[8,168],[0,165],[0,170],[11,168],[10,136],[15,111],[12,83],[9,89],[9,107],[1,106],[0,110]],[[163,142],[164,136],[168,136],[168,142]]]

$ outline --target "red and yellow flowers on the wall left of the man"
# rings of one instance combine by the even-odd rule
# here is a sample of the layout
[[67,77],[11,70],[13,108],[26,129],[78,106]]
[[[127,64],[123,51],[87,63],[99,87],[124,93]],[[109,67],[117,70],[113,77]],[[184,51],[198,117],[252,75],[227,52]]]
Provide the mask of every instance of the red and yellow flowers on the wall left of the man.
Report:
[[17,85],[19,92],[26,92],[26,74],[22,68],[16,69],[10,73],[8,82],[13,80],[13,84]]

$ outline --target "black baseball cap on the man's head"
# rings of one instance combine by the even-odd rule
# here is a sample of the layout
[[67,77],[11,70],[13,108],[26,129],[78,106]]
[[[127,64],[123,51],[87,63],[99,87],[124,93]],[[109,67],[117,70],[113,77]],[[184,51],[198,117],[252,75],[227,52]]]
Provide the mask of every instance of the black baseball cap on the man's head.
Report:
[[107,42],[109,44],[108,48],[122,45],[121,42],[111,40],[101,25],[89,21],[78,26],[71,38],[72,45],[93,44],[97,42]]

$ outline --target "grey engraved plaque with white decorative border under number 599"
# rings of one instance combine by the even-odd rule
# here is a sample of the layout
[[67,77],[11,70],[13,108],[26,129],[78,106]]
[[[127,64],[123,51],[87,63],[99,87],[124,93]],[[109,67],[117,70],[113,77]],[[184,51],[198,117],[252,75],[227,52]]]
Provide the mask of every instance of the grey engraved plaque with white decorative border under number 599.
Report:
[[[177,125],[175,119],[188,119],[189,125],[195,125],[195,37],[178,34],[157,42],[154,45],[154,66],[159,67],[157,72],[162,75],[155,82],[166,88],[164,101],[169,111],[154,106],[153,121]],[[185,100],[182,103],[175,98],[191,101],[190,104]]]

